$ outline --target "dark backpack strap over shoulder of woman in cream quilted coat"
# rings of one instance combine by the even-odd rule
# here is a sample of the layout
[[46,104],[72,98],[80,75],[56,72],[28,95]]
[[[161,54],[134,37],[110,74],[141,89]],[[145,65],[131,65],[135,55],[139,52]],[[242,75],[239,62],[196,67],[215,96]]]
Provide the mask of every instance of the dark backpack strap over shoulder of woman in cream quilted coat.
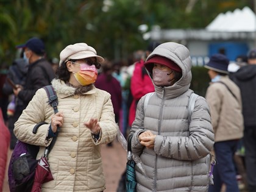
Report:
[[[54,108],[54,113],[57,113],[58,112],[58,108],[57,108],[58,97],[57,97],[57,94],[56,94],[54,88],[52,87],[52,85],[47,85],[47,86],[44,86],[43,88],[44,88],[44,90],[46,90],[47,96],[49,98],[49,101],[48,101],[49,105],[51,105],[52,108]],[[49,152],[53,148],[53,146],[54,146],[54,144],[56,142],[59,130],[60,130],[60,127],[58,126],[57,127],[57,132],[55,133],[55,137],[52,138],[51,144],[48,147],[46,147],[46,149],[44,151],[44,157],[47,157]]]

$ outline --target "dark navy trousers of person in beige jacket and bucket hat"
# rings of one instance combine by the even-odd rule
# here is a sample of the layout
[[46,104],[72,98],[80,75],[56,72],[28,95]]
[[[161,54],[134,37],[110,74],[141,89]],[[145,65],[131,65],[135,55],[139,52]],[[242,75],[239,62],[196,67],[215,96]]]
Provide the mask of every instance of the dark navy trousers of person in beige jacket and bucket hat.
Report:
[[209,186],[209,192],[221,191],[223,183],[226,185],[227,192],[239,192],[233,163],[237,145],[238,140],[220,141],[214,144],[216,156],[216,165],[213,169],[214,185]]

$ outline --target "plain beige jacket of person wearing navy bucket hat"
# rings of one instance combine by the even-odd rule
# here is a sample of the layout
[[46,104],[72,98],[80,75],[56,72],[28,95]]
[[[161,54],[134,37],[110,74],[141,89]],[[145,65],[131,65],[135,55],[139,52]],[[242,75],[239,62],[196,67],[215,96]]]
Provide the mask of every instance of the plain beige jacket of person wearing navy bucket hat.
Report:
[[219,80],[225,85],[215,82],[207,89],[205,99],[210,106],[215,142],[240,139],[243,137],[243,114],[240,89],[228,76]]

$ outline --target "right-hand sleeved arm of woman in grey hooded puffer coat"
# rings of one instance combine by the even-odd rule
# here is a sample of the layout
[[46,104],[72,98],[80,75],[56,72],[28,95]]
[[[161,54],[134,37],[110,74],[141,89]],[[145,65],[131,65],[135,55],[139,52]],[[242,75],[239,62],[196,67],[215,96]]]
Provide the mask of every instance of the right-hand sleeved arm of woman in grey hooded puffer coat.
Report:
[[210,110],[204,98],[196,100],[188,137],[155,137],[154,151],[157,155],[177,160],[197,160],[212,151],[214,133],[211,124]]

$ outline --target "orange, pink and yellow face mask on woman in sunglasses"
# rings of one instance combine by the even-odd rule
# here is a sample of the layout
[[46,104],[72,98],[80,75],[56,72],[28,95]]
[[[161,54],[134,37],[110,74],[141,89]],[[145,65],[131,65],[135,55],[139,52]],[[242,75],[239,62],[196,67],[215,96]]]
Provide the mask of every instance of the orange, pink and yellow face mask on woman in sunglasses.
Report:
[[[73,62],[75,63],[75,62]],[[86,86],[93,84],[98,76],[98,71],[95,67],[95,65],[88,65],[86,63],[75,63],[77,65],[80,65],[80,71],[77,73],[74,73],[74,77],[76,78],[77,82],[79,82],[80,85]]]

